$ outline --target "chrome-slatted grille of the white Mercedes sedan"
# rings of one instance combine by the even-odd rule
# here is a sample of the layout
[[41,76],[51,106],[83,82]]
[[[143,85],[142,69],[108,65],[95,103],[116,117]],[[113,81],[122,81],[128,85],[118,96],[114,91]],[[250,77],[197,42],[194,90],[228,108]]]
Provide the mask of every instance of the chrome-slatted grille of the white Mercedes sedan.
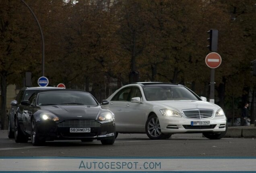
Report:
[[209,119],[213,117],[212,109],[186,109],[182,112],[189,119]]

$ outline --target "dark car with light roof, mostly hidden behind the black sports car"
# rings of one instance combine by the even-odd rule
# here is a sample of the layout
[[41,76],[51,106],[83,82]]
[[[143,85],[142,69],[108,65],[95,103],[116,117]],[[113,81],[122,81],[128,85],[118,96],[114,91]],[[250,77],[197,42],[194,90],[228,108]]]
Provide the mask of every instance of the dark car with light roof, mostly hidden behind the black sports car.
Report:
[[14,115],[17,110],[17,107],[21,105],[22,100],[28,100],[31,95],[38,93],[40,91],[50,90],[50,89],[62,89],[56,87],[23,87],[15,100],[11,101],[11,109],[8,114],[8,137],[14,138]]

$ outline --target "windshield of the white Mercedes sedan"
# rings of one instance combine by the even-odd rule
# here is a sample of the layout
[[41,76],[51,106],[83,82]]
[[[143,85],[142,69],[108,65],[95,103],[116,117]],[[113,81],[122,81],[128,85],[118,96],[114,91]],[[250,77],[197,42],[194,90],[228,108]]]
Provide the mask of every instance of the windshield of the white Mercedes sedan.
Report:
[[147,101],[199,100],[194,93],[180,85],[146,85],[143,90]]

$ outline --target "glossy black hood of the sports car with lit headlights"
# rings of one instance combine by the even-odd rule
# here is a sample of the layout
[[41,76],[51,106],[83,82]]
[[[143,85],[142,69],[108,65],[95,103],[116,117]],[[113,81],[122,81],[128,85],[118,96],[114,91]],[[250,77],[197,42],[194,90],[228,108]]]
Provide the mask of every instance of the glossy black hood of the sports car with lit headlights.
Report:
[[96,119],[100,106],[53,105],[42,109],[57,115],[60,119]]

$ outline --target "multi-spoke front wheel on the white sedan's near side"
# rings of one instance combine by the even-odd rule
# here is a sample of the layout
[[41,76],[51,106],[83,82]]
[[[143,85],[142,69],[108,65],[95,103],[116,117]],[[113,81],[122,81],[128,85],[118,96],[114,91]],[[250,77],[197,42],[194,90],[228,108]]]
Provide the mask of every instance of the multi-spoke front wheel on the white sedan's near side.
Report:
[[161,132],[161,127],[157,115],[151,115],[146,122],[146,133],[150,139],[165,139],[168,136]]

